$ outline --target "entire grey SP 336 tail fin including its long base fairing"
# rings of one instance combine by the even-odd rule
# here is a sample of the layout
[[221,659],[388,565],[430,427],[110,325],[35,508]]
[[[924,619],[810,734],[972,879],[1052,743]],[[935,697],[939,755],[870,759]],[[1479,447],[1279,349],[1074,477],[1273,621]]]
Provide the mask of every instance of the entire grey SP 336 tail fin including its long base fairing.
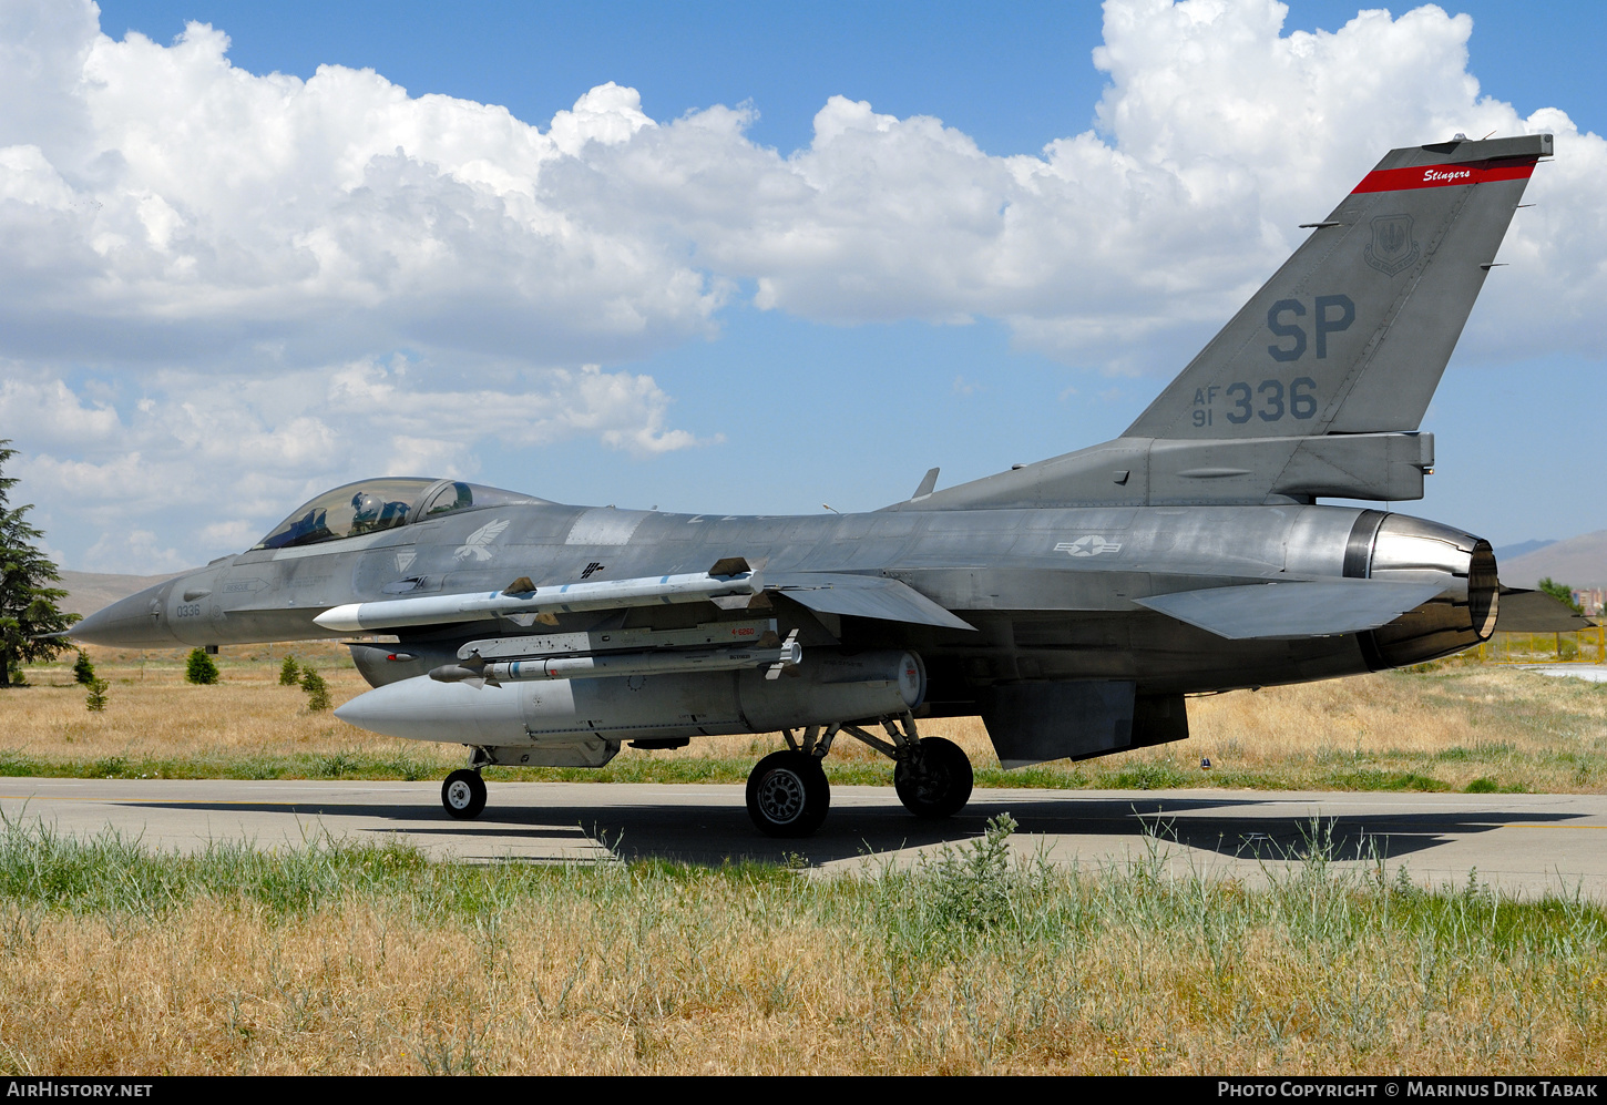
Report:
[[1422,498],[1417,426],[1551,153],[1390,151],[1122,437],[887,509]]

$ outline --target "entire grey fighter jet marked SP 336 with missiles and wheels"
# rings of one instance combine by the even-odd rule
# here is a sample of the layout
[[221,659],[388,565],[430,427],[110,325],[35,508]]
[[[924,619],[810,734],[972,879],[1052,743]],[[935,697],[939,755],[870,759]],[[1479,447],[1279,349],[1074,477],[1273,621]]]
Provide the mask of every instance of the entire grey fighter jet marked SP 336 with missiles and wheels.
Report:
[[132,647],[352,638],[336,716],[484,768],[601,766],[781,732],[747,781],[812,834],[842,737],[919,818],[971,795],[927,718],[980,715],[1006,768],[1183,740],[1186,699],[1419,663],[1490,636],[1490,543],[1321,499],[1422,498],[1419,432],[1551,135],[1390,151],[1125,434],[866,514],[566,506],[371,479],[251,549],[82,620]]

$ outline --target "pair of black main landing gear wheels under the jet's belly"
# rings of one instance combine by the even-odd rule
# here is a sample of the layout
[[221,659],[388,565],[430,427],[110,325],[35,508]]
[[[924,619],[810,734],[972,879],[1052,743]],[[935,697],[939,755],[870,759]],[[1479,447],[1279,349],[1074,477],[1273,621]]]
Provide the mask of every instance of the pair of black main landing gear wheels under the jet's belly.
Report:
[[871,745],[895,763],[893,790],[916,818],[959,813],[971,800],[972,785],[971,760],[964,750],[943,737],[922,739],[908,713],[882,721],[882,728],[889,740],[853,724],[810,726],[802,740],[791,729],[783,729],[787,748],[760,760],[747,776],[747,816],[754,826],[767,837],[783,838],[808,837],[820,829],[831,808],[831,784],[821,760],[839,732]]

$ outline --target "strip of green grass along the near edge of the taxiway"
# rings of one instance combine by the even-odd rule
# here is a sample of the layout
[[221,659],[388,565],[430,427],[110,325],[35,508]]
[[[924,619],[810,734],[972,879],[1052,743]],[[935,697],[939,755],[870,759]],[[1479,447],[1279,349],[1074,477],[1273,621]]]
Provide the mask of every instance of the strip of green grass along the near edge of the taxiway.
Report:
[[[807,879],[787,866],[669,859],[595,864],[463,866],[429,862],[405,843],[310,840],[259,851],[241,842],[209,842],[193,854],[157,851],[106,830],[63,835],[42,822],[0,822],[0,903],[76,915],[159,919],[212,899],[259,906],[276,915],[307,914],[339,899],[389,901],[410,915],[474,919],[530,898],[582,898],[619,909],[628,920],[665,895],[736,890],[755,895],[747,909],[779,909],[786,924],[869,924],[905,954],[942,959],[956,940],[1003,936],[1064,946],[1110,927],[1135,932],[1223,933],[1276,920],[1290,938],[1343,948],[1374,930],[1422,936],[1443,952],[1506,959],[1519,951],[1557,957],[1607,952],[1607,911],[1581,898],[1515,901],[1470,875],[1466,885],[1425,890],[1382,864],[1340,869],[1331,840],[1313,826],[1302,858],[1266,867],[1270,885],[1165,872],[1159,850],[1147,859],[1098,871],[1012,859],[1016,822],[1001,814],[987,834],[948,848],[914,869],[884,866],[865,877]],[[1229,907],[1225,911],[1225,907]]]

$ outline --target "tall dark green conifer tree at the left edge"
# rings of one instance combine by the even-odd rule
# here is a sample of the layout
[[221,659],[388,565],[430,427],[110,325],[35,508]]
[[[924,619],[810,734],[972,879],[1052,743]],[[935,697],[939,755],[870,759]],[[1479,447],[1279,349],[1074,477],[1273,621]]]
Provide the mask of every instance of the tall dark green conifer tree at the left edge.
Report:
[[[10,443],[0,438],[0,471],[16,456],[14,448],[6,448]],[[26,516],[34,508],[6,504],[13,487],[16,479],[0,475],[0,687],[21,684],[24,663],[55,659],[66,646],[58,644],[59,638],[40,638],[61,633],[79,620],[56,609],[56,601],[67,593],[50,586],[59,583],[61,575],[50,557],[34,548],[43,536],[27,524]]]

